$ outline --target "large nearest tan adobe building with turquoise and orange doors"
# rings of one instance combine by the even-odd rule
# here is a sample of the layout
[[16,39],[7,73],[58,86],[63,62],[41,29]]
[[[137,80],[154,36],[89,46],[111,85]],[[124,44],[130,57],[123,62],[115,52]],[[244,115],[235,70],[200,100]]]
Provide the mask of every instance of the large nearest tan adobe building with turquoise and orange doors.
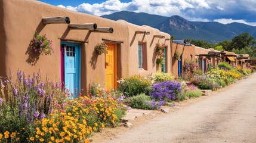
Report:
[[[0,76],[7,76],[10,70],[33,74],[40,69],[43,78],[61,80],[71,91],[85,89],[85,94],[97,80],[110,90],[123,76],[158,71],[156,43],[165,45],[164,71],[177,68],[177,62],[171,64],[171,36],[149,26],[27,0],[0,1],[0,17]],[[53,24],[54,17],[64,19],[63,23]],[[52,40],[53,54],[33,52],[29,45],[36,32]],[[106,55],[94,49],[101,42],[107,44]],[[184,57],[195,58],[195,46],[173,44]]]

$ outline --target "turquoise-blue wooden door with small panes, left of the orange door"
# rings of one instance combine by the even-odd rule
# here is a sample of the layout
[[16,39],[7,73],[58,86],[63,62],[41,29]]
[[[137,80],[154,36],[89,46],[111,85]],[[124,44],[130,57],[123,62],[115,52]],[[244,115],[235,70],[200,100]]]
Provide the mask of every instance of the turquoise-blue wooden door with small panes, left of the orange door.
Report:
[[81,48],[78,43],[64,44],[64,83],[69,89],[70,98],[76,98],[81,91],[80,63]]

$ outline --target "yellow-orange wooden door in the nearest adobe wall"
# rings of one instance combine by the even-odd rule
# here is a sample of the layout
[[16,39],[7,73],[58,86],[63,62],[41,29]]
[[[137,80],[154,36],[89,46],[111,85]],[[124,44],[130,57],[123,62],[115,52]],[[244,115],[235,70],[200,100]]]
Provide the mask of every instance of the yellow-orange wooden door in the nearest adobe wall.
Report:
[[116,44],[115,43],[106,43],[107,44],[107,54],[105,60],[105,69],[106,69],[106,82],[105,88],[107,91],[116,88]]

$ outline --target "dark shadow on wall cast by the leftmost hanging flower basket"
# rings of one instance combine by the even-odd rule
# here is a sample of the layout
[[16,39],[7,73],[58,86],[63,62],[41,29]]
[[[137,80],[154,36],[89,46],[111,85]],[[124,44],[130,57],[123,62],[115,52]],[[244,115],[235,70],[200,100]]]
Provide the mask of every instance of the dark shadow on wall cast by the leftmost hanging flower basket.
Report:
[[33,39],[31,40],[30,44],[29,44],[29,47],[27,48],[27,51],[26,51],[26,55],[29,55],[27,57],[27,60],[26,60],[26,63],[29,63],[31,66],[35,66],[35,64],[38,62],[39,60],[39,52],[35,52],[33,47],[32,47],[32,41]]

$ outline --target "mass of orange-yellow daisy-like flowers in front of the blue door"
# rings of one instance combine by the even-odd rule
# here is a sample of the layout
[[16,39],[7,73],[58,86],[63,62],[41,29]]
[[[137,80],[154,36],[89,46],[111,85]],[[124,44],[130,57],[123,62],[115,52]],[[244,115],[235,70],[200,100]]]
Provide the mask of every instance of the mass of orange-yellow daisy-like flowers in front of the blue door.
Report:
[[115,98],[79,97],[70,100],[64,111],[36,122],[32,142],[80,142],[105,126],[115,126],[127,108]]

